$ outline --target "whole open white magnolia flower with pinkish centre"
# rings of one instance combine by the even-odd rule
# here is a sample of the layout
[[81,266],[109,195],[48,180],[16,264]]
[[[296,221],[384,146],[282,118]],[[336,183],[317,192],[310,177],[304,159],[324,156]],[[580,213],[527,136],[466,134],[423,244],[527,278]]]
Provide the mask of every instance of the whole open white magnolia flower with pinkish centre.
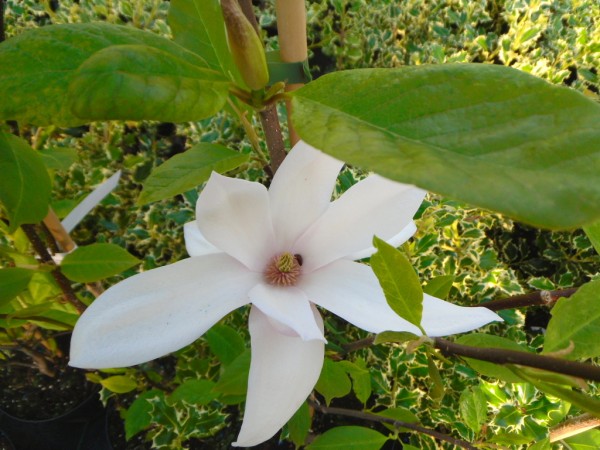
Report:
[[[417,327],[386,303],[371,268],[373,235],[400,245],[425,192],[372,175],[331,202],[342,162],[300,142],[270,189],[213,174],[184,228],[184,259],[118,283],[77,323],[75,367],[139,364],[198,339],[229,312],[252,304],[252,362],[244,421],[234,445],[273,436],[312,391],[323,365],[323,321],[315,305],[379,333]],[[500,320],[425,295],[430,336]]]

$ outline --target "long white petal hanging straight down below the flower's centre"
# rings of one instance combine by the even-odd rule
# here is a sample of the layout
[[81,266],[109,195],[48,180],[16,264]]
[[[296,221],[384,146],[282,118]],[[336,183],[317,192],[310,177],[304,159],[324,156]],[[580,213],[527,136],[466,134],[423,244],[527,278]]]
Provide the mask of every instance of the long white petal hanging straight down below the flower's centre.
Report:
[[[313,310],[319,328],[323,321]],[[250,310],[252,361],[244,422],[236,447],[270,439],[312,392],[323,367],[323,341],[279,334],[255,307]]]

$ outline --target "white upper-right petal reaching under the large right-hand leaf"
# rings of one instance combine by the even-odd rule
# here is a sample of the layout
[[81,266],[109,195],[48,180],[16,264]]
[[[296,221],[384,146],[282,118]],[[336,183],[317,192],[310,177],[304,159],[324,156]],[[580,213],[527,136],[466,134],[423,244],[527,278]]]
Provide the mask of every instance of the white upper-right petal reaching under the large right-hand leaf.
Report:
[[424,196],[414,186],[371,175],[333,202],[293,251],[302,255],[303,270],[310,272],[368,249],[374,235],[387,240],[406,227]]

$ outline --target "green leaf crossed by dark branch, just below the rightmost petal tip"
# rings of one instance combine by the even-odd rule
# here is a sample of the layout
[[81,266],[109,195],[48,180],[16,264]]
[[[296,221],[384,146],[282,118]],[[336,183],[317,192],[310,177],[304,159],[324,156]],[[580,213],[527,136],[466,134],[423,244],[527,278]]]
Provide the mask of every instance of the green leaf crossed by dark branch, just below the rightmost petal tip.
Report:
[[[482,333],[473,333],[466,334],[464,336],[459,337],[456,340],[457,343],[463,345],[470,345],[473,347],[481,347],[481,348],[502,348],[506,350],[517,350],[522,352],[527,352],[529,349],[525,346],[517,344],[510,339],[506,339],[500,336],[494,336],[492,334],[482,334]],[[477,359],[472,358],[464,358],[465,361],[479,372],[482,375],[486,375],[488,377],[498,378],[500,380],[506,381],[507,383],[519,383],[523,380],[514,374],[509,368],[504,367],[499,364],[494,364],[486,361],[479,361]]]

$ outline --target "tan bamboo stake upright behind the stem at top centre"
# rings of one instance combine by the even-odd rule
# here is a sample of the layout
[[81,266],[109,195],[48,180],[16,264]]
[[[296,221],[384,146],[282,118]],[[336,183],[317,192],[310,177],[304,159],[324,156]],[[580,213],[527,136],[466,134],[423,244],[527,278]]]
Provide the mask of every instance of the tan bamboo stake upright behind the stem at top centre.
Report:
[[[306,6],[304,0],[276,0],[275,9],[277,13],[277,32],[279,35],[280,57],[283,62],[302,62],[308,58],[306,44]],[[302,83],[286,85],[286,91],[293,91],[302,87]],[[290,143],[292,146],[298,140],[292,126],[292,105],[286,101],[288,112],[288,128],[290,131]]]

